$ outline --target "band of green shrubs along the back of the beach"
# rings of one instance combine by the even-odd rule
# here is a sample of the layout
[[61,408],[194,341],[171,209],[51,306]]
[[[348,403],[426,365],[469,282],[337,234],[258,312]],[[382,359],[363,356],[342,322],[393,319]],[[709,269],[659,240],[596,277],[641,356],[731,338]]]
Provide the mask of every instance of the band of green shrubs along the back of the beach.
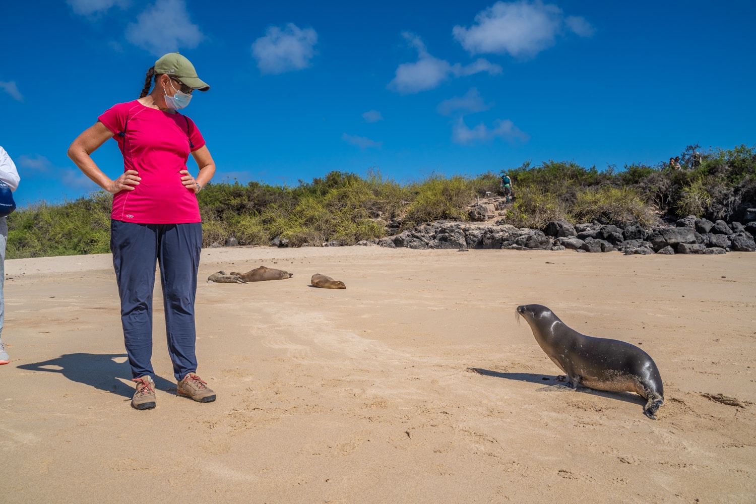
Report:
[[[575,162],[525,162],[506,170],[515,203],[506,221],[542,229],[549,221],[655,224],[685,215],[730,218],[756,206],[756,149],[681,154],[683,169],[625,165],[615,172]],[[504,170],[502,173],[505,172]],[[433,174],[398,184],[378,172],[365,177],[330,172],[296,187],[259,182],[208,184],[198,195],[203,246],[235,237],[240,245],[268,245],[275,237],[290,246],[326,242],[353,245],[385,237],[392,230],[438,219],[465,220],[476,196],[497,194],[499,174]],[[73,202],[38,203],[8,217],[8,258],[109,252],[110,204],[102,191]]]

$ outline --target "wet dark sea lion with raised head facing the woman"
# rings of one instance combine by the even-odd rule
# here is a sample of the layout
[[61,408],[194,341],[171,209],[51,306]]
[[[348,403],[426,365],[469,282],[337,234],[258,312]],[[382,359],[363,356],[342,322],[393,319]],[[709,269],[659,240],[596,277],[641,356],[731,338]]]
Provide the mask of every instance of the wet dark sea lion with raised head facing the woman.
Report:
[[664,386],[649,354],[630,343],[593,338],[570,329],[545,306],[518,306],[518,320],[520,315],[530,324],[538,345],[567,375],[573,389],[581,383],[596,390],[635,392],[648,400],[643,413],[656,419],[656,410],[664,403]]

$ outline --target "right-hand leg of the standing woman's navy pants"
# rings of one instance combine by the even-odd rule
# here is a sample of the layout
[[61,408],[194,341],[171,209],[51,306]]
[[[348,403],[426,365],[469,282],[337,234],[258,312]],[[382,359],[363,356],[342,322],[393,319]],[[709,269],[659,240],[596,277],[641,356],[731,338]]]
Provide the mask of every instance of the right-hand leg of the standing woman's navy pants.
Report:
[[177,381],[197,372],[194,299],[202,249],[202,224],[160,224],[158,261],[166,310],[166,337]]

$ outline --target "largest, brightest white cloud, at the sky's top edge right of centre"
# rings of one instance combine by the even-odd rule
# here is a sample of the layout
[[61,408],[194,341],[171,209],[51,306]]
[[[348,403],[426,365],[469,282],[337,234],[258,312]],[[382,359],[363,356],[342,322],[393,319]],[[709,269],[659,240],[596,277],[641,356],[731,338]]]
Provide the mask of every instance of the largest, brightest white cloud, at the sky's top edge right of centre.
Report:
[[565,18],[562,9],[541,0],[528,2],[496,2],[480,11],[476,24],[469,28],[454,26],[454,39],[470,54],[511,54],[514,57],[533,57],[556,41],[565,29],[585,37],[593,34],[584,18]]

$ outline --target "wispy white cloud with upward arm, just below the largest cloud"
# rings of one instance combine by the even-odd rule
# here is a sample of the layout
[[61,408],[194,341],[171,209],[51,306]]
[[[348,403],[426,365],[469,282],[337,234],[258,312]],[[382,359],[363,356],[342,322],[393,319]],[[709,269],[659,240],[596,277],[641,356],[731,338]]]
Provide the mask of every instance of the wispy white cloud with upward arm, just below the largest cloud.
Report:
[[501,66],[483,58],[466,66],[460,63],[452,65],[447,60],[439,60],[429,54],[420,37],[409,32],[402,33],[402,36],[417,49],[418,59],[414,63],[401,63],[396,69],[396,76],[389,82],[388,88],[401,94],[419,93],[435,88],[451,76],[470,76],[480,72],[488,72],[493,76],[501,73]]

